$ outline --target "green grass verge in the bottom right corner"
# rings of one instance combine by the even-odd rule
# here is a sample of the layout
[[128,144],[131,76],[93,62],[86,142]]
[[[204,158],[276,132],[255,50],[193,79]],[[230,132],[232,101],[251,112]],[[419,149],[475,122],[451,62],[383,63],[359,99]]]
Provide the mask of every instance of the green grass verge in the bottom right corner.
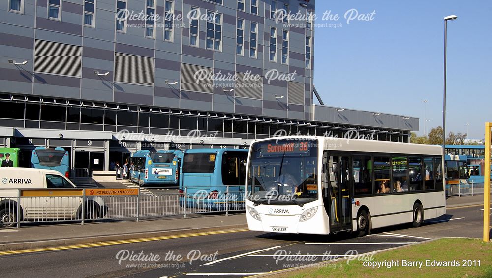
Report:
[[[319,268],[309,267],[279,273],[274,277],[492,278],[492,243],[485,243],[479,239],[444,238],[377,253],[372,257],[365,256],[365,261],[355,259],[347,263],[347,260],[341,260]],[[378,262],[379,268],[377,265],[368,265]],[[404,266],[404,262],[417,263]],[[447,262],[447,265],[444,262]],[[438,263],[441,265],[436,265]]]

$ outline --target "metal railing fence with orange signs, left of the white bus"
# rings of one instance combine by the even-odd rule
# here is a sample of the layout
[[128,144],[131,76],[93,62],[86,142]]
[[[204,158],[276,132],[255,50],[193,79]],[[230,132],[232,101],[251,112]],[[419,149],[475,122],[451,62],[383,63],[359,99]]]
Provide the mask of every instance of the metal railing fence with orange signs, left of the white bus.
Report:
[[[96,220],[134,220],[142,218],[245,210],[244,191],[210,194],[184,188],[184,192],[141,194],[137,188],[88,188],[0,190],[0,228],[26,223],[94,222]],[[193,192],[193,193],[189,193]]]

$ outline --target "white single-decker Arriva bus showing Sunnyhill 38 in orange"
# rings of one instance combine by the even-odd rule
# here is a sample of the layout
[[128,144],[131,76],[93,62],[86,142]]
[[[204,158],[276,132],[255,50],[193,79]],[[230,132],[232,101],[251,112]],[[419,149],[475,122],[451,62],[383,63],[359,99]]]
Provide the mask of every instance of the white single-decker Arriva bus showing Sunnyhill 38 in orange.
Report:
[[253,142],[246,218],[252,231],[331,234],[446,212],[442,147],[286,136]]

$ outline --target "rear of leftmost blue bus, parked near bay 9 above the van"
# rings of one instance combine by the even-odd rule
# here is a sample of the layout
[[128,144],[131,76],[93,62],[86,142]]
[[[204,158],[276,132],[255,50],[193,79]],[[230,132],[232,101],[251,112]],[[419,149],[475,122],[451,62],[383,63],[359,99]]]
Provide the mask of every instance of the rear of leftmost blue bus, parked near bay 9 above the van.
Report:
[[45,147],[36,147],[31,155],[31,168],[55,170],[69,177],[70,159],[68,151],[64,148],[56,147],[49,149]]

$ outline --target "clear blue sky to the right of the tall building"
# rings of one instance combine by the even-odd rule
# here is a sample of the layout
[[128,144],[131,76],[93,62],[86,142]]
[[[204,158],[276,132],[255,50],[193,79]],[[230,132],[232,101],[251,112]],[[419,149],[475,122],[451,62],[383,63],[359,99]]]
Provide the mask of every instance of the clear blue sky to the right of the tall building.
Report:
[[[372,21],[344,14],[375,11]],[[338,21],[323,21],[323,12]],[[442,125],[444,21],[448,22],[446,130],[484,138],[492,121],[491,0],[318,0],[314,85],[325,105],[420,118],[424,134]],[[316,102],[316,100],[315,100]],[[447,133],[447,132],[446,132]]]

